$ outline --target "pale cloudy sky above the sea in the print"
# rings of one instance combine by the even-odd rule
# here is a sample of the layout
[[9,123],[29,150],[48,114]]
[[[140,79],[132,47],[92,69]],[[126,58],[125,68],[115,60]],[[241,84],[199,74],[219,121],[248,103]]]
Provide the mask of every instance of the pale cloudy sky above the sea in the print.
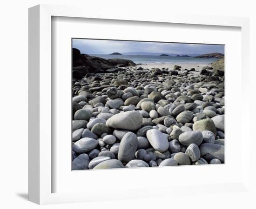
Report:
[[151,52],[176,54],[224,53],[223,45],[177,44],[140,41],[115,41],[95,39],[73,39],[73,47],[86,54],[110,54],[113,52]]

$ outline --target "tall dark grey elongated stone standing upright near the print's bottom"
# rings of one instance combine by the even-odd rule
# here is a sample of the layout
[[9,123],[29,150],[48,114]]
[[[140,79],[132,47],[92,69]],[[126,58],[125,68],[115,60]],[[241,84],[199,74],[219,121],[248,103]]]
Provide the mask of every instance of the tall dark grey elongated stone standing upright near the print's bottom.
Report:
[[138,139],[136,134],[128,132],[122,137],[119,150],[118,159],[121,162],[128,163],[130,160],[134,159],[135,152],[138,146]]

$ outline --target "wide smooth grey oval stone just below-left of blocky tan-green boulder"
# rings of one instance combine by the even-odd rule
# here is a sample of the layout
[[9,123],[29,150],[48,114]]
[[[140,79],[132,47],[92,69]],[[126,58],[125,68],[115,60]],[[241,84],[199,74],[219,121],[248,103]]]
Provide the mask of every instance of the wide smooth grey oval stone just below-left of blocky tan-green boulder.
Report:
[[179,142],[184,146],[189,146],[190,144],[200,145],[202,144],[202,133],[201,131],[186,131],[179,136]]

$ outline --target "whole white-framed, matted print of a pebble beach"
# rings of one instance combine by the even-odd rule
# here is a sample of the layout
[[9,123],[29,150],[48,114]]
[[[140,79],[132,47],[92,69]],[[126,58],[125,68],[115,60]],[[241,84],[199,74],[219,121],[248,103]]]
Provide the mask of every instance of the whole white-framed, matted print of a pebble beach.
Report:
[[234,105],[248,101],[248,30],[245,18],[30,8],[29,200],[248,191],[249,110]]

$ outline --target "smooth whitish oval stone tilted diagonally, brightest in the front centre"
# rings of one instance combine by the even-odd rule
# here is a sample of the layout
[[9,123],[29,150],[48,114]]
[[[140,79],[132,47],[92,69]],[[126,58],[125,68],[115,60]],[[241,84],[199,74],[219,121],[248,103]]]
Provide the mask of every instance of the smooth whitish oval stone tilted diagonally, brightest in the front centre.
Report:
[[151,146],[160,152],[168,150],[169,144],[165,134],[161,131],[150,129],[147,131],[147,138]]

